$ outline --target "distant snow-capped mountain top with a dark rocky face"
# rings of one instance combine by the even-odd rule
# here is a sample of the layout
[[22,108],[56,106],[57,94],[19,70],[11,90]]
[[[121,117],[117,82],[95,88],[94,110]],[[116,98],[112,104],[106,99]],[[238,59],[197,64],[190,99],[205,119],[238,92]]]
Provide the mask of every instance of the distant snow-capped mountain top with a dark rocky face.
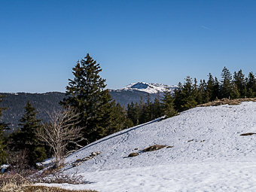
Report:
[[135,84],[129,84],[120,90],[139,90],[146,93],[158,93],[158,92],[164,92],[166,90],[173,92],[175,88],[177,88],[177,86],[170,86],[165,84],[152,84],[152,83],[148,84],[145,82],[139,82]]

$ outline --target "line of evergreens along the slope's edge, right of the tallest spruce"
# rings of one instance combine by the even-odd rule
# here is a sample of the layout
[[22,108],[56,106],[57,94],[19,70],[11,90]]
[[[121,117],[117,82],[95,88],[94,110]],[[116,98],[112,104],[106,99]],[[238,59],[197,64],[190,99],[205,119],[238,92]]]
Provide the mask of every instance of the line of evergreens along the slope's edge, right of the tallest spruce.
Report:
[[224,67],[221,72],[221,80],[214,78],[211,73],[208,80],[197,81],[189,76],[184,83],[178,83],[178,88],[171,95],[168,90],[164,93],[163,98],[158,96],[151,101],[150,95],[146,102],[131,103],[127,105],[126,117],[132,121],[132,125],[154,120],[157,117],[172,117],[178,112],[194,108],[197,105],[214,101],[215,99],[239,99],[256,96],[256,80],[253,72],[247,77],[242,73],[231,72]]

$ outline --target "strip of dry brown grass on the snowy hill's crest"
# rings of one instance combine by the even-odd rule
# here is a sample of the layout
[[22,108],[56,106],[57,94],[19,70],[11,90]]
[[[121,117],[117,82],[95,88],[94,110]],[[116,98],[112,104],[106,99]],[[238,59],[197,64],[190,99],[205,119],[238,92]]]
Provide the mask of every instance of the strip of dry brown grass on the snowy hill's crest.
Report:
[[256,102],[256,98],[243,98],[243,99],[218,99],[213,102],[197,105],[197,107],[218,106],[218,105],[239,105],[241,102]]

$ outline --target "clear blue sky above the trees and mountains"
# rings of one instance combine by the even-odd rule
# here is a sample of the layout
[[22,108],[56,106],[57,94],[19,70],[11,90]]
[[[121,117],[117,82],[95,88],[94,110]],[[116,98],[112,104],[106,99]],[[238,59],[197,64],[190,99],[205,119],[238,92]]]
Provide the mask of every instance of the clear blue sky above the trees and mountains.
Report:
[[0,0],[0,92],[64,92],[86,53],[110,89],[248,75],[256,1]]

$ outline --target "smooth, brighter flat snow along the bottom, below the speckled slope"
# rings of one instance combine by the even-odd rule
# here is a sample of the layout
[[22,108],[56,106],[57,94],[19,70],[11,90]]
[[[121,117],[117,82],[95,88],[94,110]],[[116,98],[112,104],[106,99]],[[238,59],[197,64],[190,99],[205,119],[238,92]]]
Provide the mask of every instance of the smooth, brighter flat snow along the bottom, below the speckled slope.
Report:
[[254,162],[175,163],[87,172],[92,184],[46,184],[70,190],[120,191],[256,191]]

